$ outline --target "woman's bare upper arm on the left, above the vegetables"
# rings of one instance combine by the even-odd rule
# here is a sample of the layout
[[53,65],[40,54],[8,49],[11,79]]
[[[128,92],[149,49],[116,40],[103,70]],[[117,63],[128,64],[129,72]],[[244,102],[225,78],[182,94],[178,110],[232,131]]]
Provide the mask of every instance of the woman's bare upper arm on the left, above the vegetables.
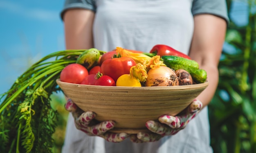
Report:
[[92,25],[94,12],[70,9],[63,16],[66,49],[93,48]]

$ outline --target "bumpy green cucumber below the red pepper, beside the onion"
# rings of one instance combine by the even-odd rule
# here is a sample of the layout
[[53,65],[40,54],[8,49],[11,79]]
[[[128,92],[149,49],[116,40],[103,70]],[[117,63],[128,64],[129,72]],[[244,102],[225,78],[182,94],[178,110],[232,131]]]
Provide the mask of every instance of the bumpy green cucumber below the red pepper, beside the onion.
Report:
[[204,83],[207,79],[207,73],[199,69],[198,62],[192,59],[186,59],[178,56],[162,56],[164,64],[173,70],[183,69],[188,71],[195,83]]

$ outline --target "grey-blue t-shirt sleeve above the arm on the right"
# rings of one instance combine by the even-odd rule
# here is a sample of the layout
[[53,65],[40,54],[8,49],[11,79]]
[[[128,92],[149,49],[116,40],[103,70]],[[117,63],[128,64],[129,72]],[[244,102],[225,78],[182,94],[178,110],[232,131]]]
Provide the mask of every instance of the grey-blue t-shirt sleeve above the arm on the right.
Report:
[[193,0],[192,14],[212,14],[229,23],[226,0]]

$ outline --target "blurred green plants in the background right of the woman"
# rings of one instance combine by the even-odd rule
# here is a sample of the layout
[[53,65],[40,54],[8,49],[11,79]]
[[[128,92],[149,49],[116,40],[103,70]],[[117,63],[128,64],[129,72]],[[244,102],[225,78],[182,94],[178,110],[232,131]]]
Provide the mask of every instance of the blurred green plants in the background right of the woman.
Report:
[[[227,0],[230,11],[234,0]],[[247,2],[248,24],[232,19],[219,63],[219,84],[209,105],[214,153],[256,153],[256,14],[255,0]]]

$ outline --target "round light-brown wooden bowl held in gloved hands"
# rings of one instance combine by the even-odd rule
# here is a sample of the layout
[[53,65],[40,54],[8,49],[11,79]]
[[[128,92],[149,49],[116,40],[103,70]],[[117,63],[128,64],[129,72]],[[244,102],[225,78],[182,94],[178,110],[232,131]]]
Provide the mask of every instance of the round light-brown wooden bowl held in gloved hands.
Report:
[[180,85],[172,87],[113,87],[56,83],[65,95],[83,111],[93,111],[96,120],[114,120],[112,132],[138,133],[148,131],[145,122],[159,116],[177,115],[208,85]]

